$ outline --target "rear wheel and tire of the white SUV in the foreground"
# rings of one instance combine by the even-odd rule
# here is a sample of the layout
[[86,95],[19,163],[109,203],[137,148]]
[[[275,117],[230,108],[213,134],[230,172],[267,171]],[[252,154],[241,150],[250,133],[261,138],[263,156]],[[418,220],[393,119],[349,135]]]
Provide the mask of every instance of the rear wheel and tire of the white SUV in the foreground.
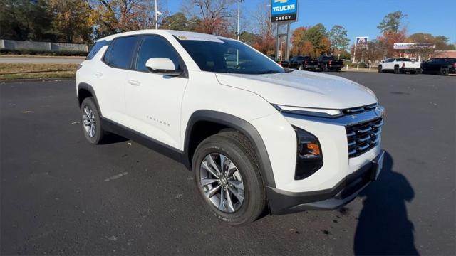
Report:
[[84,136],[90,144],[100,144],[103,141],[105,132],[93,97],[86,97],[81,104],[81,125]]

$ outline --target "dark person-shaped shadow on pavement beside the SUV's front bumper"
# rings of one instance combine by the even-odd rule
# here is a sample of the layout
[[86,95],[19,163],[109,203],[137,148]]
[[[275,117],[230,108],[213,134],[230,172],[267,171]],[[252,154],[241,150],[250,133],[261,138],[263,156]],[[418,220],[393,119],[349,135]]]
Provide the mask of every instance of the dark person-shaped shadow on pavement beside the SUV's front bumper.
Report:
[[355,255],[418,255],[413,223],[405,207],[415,193],[407,178],[393,171],[393,158],[388,152],[378,181],[360,196],[366,198],[356,228]]

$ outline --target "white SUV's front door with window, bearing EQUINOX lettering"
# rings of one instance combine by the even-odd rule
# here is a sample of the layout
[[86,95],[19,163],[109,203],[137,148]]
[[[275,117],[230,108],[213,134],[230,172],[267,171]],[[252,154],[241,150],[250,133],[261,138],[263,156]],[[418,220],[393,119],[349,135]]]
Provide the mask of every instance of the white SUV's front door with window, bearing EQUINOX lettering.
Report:
[[150,58],[170,58],[185,70],[180,55],[167,39],[145,35],[140,39],[134,70],[128,73],[125,87],[127,112],[131,124],[142,134],[180,149],[180,107],[187,72],[179,77],[151,73],[145,66]]

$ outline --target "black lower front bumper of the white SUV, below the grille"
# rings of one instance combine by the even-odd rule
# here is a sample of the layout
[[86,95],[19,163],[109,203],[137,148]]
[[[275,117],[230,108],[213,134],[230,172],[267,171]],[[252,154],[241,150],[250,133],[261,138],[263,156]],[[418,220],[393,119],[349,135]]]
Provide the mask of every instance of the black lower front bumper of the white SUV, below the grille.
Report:
[[333,188],[323,191],[294,193],[268,187],[269,210],[272,214],[286,214],[303,210],[333,210],[344,206],[378,177],[383,154],[384,151],[381,151],[373,161],[346,176]]

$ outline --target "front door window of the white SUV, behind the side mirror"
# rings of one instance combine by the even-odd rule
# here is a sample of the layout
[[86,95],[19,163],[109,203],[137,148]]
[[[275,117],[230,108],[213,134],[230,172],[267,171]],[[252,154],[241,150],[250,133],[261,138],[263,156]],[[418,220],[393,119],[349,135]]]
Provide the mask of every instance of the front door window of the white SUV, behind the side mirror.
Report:
[[[226,56],[229,58],[230,56]],[[150,58],[170,58],[177,68],[179,65],[179,55],[171,44],[160,36],[145,36],[142,39],[138,60],[136,61],[136,69],[147,71],[145,63]]]

